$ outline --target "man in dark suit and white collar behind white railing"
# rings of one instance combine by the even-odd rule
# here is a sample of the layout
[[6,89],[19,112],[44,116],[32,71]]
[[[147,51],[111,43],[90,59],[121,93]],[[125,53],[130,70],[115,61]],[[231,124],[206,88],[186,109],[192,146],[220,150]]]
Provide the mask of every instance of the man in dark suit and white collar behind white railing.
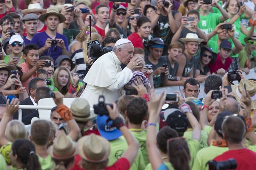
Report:
[[[36,106],[37,104],[34,101],[34,98],[36,95],[36,89],[38,87],[42,87],[42,86],[46,87],[46,82],[44,81],[44,79],[36,77],[36,78],[30,80],[30,82],[28,83],[29,97],[23,101],[20,101],[20,105]],[[30,115],[31,113],[34,113],[35,111],[36,111],[36,109],[22,109],[22,118]],[[16,112],[13,115],[13,119],[18,119],[18,112]]]

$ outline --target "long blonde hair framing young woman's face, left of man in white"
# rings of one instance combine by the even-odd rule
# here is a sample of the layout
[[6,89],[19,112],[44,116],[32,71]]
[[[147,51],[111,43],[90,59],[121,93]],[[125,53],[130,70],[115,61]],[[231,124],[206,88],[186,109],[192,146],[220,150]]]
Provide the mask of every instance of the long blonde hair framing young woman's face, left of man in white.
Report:
[[[64,87],[62,87],[62,89],[60,89],[60,84],[59,84],[59,82],[58,82],[58,74],[59,74],[59,72],[62,71],[62,70],[66,71],[66,72],[68,73],[68,84],[65,85]],[[69,86],[70,86],[71,84],[73,84],[73,77],[72,77],[70,71],[69,71],[67,68],[65,68],[65,67],[58,67],[58,68],[54,71],[53,76],[52,76],[52,79],[53,79],[53,81],[54,81],[55,87],[57,87],[57,89],[58,89],[58,90],[60,91],[60,93],[62,93],[63,95],[66,95],[66,93],[68,93]]]

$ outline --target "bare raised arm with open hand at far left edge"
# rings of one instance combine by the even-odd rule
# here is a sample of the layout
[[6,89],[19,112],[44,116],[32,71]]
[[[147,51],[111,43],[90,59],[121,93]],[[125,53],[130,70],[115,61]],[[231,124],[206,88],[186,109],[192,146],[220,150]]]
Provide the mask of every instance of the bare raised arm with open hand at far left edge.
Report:
[[5,129],[7,126],[7,123],[12,118],[13,114],[16,113],[19,109],[19,99],[12,99],[11,103],[9,104],[9,99],[6,102],[6,108],[4,110],[4,116],[2,120],[0,121],[0,146],[3,146],[4,144],[8,144],[8,140],[5,136]]

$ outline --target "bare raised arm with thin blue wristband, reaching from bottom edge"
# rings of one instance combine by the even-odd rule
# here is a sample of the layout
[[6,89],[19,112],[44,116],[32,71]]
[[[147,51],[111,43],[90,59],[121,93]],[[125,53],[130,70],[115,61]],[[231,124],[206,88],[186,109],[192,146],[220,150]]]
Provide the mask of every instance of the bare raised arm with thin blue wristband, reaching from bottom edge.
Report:
[[[152,96],[155,96],[153,93]],[[156,145],[156,123],[158,123],[159,113],[164,104],[166,93],[161,93],[157,97],[153,97],[148,103],[149,119],[148,119],[148,132],[147,132],[147,150],[148,158],[152,165],[153,170],[157,170],[163,163],[161,154]]]

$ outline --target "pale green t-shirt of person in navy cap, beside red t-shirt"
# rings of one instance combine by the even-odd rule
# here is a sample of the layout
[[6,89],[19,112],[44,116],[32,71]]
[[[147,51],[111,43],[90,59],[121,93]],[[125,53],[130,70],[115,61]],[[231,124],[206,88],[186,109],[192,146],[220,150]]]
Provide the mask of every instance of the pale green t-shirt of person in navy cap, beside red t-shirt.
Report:
[[228,151],[228,147],[209,146],[202,148],[196,154],[192,170],[208,170],[208,166],[205,166],[206,163],[226,151]]

